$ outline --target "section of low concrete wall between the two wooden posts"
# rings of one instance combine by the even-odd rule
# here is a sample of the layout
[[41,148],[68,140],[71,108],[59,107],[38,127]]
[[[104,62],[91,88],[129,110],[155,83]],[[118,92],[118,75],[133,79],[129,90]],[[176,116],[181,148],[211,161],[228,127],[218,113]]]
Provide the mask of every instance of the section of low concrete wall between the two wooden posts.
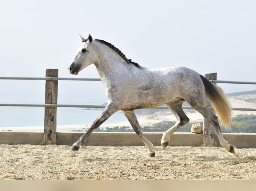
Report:
[[[162,133],[144,133],[155,146],[160,146]],[[72,145],[83,133],[57,133],[57,141],[60,145]],[[202,134],[174,133],[171,137],[171,146],[200,146]],[[94,132],[84,145],[112,145],[112,146],[139,146],[144,145],[141,138],[133,132]]]

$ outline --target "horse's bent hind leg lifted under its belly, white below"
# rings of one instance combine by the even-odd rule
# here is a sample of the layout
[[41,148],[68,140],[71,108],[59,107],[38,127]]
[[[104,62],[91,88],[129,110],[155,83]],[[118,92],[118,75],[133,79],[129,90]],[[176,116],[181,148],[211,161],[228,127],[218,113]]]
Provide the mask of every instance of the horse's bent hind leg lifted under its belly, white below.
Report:
[[171,110],[171,112],[175,115],[177,122],[171,128],[169,128],[167,131],[163,133],[161,139],[161,145],[163,150],[167,147],[172,133],[174,133],[181,126],[189,122],[189,118],[186,116],[182,109],[183,102],[184,100],[180,100],[179,102],[170,102],[166,104],[167,107]]

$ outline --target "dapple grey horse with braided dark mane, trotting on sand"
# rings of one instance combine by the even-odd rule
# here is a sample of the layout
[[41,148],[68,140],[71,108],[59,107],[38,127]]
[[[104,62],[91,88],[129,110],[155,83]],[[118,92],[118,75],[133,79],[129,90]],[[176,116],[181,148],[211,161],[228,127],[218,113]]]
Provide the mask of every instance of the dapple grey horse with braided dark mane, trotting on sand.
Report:
[[[78,150],[96,128],[113,113],[122,110],[134,131],[145,143],[148,155],[155,156],[153,144],[142,133],[133,110],[166,104],[173,112],[177,123],[163,133],[161,145],[165,149],[172,133],[189,122],[182,110],[182,103],[186,101],[214,127],[220,144],[237,155],[220,129],[219,122],[230,127],[232,117],[231,105],[220,87],[194,70],[185,67],[144,68],[127,59],[118,48],[106,41],[93,39],[91,35],[88,39],[81,39],[83,43],[68,66],[69,72],[78,75],[81,70],[94,64],[105,87],[107,105],[89,130],[73,144],[71,150]],[[208,102],[218,117],[211,112]]]

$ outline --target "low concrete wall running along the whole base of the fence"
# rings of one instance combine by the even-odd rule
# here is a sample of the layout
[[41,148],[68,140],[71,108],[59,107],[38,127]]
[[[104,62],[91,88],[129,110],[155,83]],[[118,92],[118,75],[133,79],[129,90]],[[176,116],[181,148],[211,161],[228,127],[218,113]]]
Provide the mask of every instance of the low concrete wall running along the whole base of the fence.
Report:
[[[83,132],[57,132],[56,140],[59,145],[72,145]],[[162,133],[144,133],[154,144],[160,146]],[[173,133],[169,146],[201,146],[203,134]],[[229,144],[236,148],[256,148],[256,133],[223,133]],[[0,144],[40,144],[43,132],[0,132]],[[139,146],[144,145],[140,137],[134,132],[93,132],[84,145],[112,145],[112,146]],[[215,135],[215,146],[220,142]]]

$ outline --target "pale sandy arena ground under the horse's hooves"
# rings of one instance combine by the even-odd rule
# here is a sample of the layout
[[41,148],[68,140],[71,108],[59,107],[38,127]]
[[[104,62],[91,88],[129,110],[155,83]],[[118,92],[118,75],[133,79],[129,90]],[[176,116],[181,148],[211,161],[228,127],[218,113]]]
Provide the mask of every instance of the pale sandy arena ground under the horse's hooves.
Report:
[[256,180],[256,149],[0,145],[0,180]]

